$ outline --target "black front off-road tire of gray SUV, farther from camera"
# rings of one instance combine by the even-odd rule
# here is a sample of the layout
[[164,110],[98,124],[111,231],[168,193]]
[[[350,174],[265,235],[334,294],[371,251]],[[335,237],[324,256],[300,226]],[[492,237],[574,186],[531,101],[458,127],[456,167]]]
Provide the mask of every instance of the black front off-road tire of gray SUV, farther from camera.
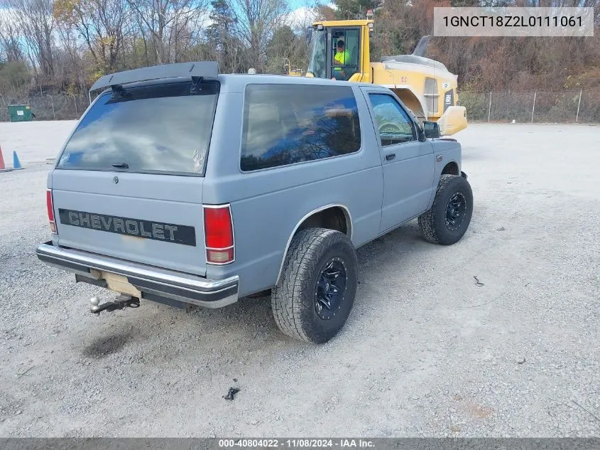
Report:
[[[446,214],[449,200],[455,194],[462,195],[465,200],[464,217],[459,225],[447,225]],[[425,240],[433,244],[452,245],[462,239],[467,232],[473,215],[473,191],[469,182],[458,175],[444,174],[437,185],[435,198],[430,210],[419,216],[419,228]]]

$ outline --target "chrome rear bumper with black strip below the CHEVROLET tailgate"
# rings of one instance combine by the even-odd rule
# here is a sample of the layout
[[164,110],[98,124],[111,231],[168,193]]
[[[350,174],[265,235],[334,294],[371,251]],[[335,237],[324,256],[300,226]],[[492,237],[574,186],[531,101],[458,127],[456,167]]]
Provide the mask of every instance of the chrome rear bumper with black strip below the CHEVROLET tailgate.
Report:
[[142,299],[166,298],[207,308],[221,308],[238,300],[237,276],[211,280],[82,250],[56,247],[52,241],[38,246],[36,254],[40,261],[74,273],[78,281],[102,286],[100,272],[126,277],[127,282],[141,292]]

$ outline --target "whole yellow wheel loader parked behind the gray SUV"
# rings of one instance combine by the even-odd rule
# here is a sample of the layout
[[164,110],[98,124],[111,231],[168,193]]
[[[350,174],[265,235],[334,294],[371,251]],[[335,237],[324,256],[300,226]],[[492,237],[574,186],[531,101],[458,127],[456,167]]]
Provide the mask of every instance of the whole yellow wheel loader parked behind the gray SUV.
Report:
[[437,122],[440,134],[465,129],[467,109],[459,106],[457,75],[423,56],[429,36],[419,41],[412,55],[388,56],[372,63],[369,36],[373,24],[373,20],[313,23],[306,76],[383,85],[398,95],[419,122]]

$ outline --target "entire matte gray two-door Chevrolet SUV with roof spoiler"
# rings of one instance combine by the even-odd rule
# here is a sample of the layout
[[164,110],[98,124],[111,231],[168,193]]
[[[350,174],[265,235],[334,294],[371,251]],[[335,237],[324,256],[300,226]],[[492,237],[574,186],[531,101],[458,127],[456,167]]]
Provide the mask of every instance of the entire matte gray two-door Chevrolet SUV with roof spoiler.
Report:
[[94,314],[268,296],[281,333],[320,344],[362,295],[357,248],[411,220],[423,240],[460,245],[471,222],[461,145],[381,85],[200,61],[113,73],[95,91],[48,174],[37,249],[118,294],[92,297]]

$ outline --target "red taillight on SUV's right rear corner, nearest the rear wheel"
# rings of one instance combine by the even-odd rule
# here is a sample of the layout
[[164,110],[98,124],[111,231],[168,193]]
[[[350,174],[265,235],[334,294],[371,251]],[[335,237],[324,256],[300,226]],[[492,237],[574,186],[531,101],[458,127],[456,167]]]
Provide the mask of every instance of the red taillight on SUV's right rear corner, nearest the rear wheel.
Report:
[[234,229],[229,205],[204,206],[204,242],[207,262],[227,264],[234,260]]

